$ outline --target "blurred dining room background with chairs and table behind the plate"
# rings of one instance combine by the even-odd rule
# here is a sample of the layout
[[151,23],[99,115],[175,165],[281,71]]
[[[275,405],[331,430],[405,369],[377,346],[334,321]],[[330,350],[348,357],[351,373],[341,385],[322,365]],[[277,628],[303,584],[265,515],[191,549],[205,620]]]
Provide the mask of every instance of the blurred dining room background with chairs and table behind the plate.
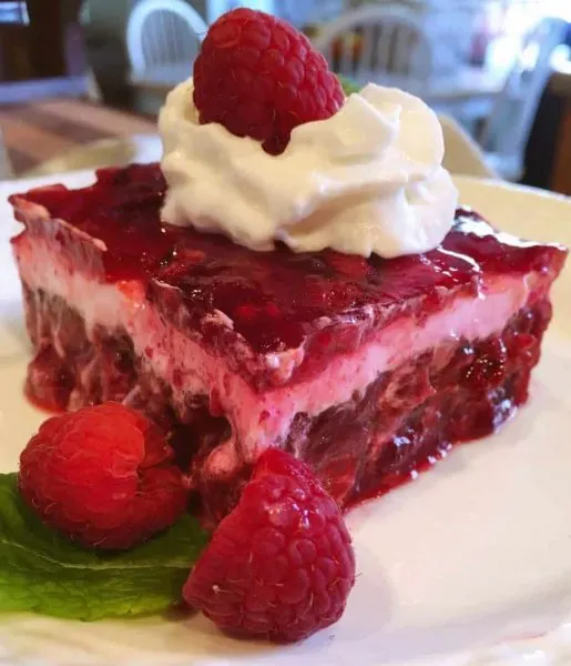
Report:
[[305,31],[347,92],[425,99],[451,171],[571,195],[571,0],[0,0],[0,178],[157,159],[165,94],[235,7]]

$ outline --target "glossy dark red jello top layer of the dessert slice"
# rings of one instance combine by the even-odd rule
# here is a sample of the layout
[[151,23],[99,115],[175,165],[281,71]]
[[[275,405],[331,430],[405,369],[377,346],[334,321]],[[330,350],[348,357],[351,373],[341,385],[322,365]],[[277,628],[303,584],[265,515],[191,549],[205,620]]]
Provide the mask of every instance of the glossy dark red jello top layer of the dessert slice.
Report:
[[[180,327],[202,329],[214,346],[225,343],[204,315],[224,313],[233,321],[232,334],[239,334],[255,355],[304,342],[314,356],[323,355],[316,349],[350,351],[364,340],[363,330],[355,336],[350,329],[370,320],[370,306],[375,315],[367,330],[410,307],[418,311],[420,302],[427,314],[459,291],[476,294],[485,272],[557,273],[564,260],[560,248],[497,234],[462,210],[442,246],[426,254],[387,261],[333,251],[296,254],[281,244],[273,252],[253,252],[220,235],[162,222],[164,192],[159,165],[132,165],[99,171],[90,188],[42,188],[11,201],[17,210],[22,201],[39,204],[52,219],[102,241],[106,281],[143,281],[167,316]],[[29,225],[27,215],[20,218]],[[73,233],[54,238],[77,270],[84,270],[85,250],[78,250]]]

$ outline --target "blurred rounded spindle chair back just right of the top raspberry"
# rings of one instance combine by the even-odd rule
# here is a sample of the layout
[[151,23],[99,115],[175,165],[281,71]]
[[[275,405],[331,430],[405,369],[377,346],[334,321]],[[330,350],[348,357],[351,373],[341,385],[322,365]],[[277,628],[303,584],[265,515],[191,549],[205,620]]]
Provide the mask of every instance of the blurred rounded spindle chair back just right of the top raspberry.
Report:
[[412,10],[367,4],[328,23],[315,38],[332,69],[357,83],[418,91],[432,72],[432,46]]

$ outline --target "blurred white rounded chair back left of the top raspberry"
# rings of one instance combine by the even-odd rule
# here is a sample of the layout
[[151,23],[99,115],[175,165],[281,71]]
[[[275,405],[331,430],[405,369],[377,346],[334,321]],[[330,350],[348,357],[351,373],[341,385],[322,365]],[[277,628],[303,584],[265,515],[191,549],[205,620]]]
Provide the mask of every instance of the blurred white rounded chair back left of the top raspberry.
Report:
[[184,0],[141,0],[126,27],[131,83],[169,89],[186,79],[206,30]]

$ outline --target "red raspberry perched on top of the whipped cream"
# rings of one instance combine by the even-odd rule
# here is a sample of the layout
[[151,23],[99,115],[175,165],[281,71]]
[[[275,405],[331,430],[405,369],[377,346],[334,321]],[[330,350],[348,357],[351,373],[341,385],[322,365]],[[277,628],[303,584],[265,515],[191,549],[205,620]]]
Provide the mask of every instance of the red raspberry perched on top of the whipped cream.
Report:
[[282,153],[292,130],[333,115],[344,100],[337,77],[307,37],[286,21],[235,9],[215,21],[194,63],[200,122]]

